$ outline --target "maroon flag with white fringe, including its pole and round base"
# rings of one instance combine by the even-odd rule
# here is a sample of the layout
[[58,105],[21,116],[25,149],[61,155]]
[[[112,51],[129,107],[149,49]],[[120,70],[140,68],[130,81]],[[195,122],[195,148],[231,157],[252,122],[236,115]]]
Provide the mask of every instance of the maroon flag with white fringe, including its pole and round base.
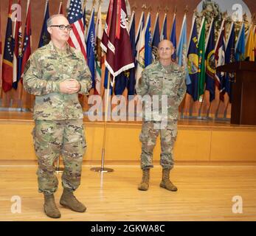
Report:
[[[105,121],[104,121],[104,133],[103,133],[103,148],[102,148],[102,159],[101,167],[91,168],[92,171],[97,172],[112,172],[113,169],[104,167],[105,158],[105,142],[106,142],[106,131],[108,122],[108,102],[110,86],[112,85],[110,79],[110,73],[113,74],[113,83],[115,76],[120,74],[122,71],[131,69],[134,67],[134,58],[131,52],[131,41],[128,35],[128,22],[125,16],[125,22],[122,22],[122,15],[127,15],[125,0],[113,0],[108,5],[108,15],[106,18],[105,30],[103,32],[103,38],[100,46],[106,54],[105,66],[108,68],[108,84],[107,84],[107,96],[105,96]],[[124,24],[124,26],[122,26]],[[129,45],[130,44],[130,45]],[[112,45],[112,46],[111,46]],[[113,48],[114,53],[113,53]],[[122,49],[121,49],[122,48]],[[125,57],[123,57],[123,55]],[[122,60],[120,60],[122,59]],[[118,63],[115,63],[117,60]],[[111,83],[111,85],[110,85]]]

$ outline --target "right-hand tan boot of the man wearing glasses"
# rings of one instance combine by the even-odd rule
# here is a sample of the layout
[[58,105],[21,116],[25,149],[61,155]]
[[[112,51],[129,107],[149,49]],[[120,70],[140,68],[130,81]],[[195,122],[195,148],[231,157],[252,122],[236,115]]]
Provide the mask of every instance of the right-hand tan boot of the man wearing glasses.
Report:
[[66,206],[69,209],[72,209],[74,212],[85,212],[86,206],[84,206],[80,201],[75,198],[75,195],[71,190],[65,189],[63,190],[63,194],[60,198],[60,205]]

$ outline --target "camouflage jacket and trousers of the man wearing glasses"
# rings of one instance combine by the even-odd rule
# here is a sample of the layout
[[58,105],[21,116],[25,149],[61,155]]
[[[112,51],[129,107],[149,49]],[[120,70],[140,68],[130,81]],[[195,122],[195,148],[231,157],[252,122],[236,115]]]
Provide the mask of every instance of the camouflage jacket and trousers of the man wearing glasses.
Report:
[[46,195],[58,188],[54,162],[63,157],[62,184],[76,190],[80,184],[86,140],[83,110],[77,93],[63,94],[60,82],[77,80],[79,93],[89,94],[91,74],[81,52],[67,46],[60,51],[52,41],[37,49],[24,69],[24,89],[35,94],[33,129],[34,147],[38,156],[38,189]]

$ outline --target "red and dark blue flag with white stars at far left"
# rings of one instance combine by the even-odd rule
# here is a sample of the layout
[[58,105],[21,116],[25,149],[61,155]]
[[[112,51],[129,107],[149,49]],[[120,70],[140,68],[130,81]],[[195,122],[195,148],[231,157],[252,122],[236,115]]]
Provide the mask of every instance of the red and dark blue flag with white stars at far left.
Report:
[[2,88],[5,92],[10,91],[13,87],[13,51],[14,51],[14,39],[12,35],[12,7],[13,1],[9,1],[9,15],[7,20],[7,29],[5,35],[4,44],[4,60],[2,67]]

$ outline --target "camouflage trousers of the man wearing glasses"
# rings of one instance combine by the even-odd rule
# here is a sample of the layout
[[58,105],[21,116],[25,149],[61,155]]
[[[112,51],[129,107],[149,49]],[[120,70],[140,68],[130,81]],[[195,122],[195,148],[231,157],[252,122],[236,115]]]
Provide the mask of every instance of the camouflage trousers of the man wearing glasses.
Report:
[[38,157],[38,191],[50,195],[57,190],[54,162],[60,155],[64,164],[62,185],[75,191],[80,185],[83,154],[86,151],[83,119],[35,120],[32,133]]

